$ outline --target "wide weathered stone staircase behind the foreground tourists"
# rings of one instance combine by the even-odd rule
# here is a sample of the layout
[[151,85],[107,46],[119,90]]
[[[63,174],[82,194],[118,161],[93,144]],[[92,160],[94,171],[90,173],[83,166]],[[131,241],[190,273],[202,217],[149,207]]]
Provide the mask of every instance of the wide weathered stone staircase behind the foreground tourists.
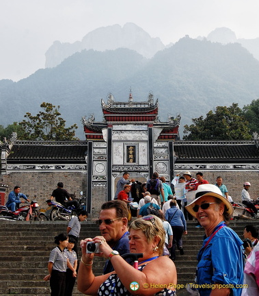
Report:
[[[243,238],[245,225],[254,221],[232,221],[232,227]],[[0,221],[0,296],[7,295],[50,295],[49,282],[43,277],[48,273],[49,253],[54,244],[54,237],[66,233],[65,221]],[[258,223],[257,223],[258,224]],[[203,228],[196,228],[193,221],[188,221],[188,235],[183,236],[185,254],[176,257],[178,284],[193,282],[197,264],[197,251],[202,245]],[[94,221],[85,221],[81,227],[81,238],[98,235]],[[79,251],[80,256],[80,251]],[[104,260],[95,258],[94,273],[101,274]],[[83,295],[74,287],[74,296]],[[189,295],[185,288],[177,295]]]

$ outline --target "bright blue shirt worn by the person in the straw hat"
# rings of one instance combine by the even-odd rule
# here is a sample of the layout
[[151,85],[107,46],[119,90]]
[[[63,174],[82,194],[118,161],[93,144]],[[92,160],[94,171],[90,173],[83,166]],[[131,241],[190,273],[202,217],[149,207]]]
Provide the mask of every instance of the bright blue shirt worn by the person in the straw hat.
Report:
[[[217,227],[224,223],[221,222]],[[215,230],[217,229],[215,228]],[[212,234],[213,235],[213,234]],[[197,255],[197,284],[207,286],[199,288],[201,296],[210,295],[213,284],[229,285],[234,296],[240,296],[243,284],[243,253],[242,240],[229,227],[221,228],[210,240],[206,248],[204,240],[202,249]]]

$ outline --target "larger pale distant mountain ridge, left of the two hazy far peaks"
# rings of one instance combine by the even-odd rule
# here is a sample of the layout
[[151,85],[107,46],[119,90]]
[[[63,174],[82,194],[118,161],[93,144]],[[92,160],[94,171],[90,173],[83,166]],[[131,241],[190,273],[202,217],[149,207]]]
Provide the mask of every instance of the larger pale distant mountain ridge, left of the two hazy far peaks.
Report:
[[62,43],[55,41],[46,51],[46,68],[52,68],[60,64],[65,58],[83,49],[96,51],[115,50],[127,48],[137,51],[145,58],[152,58],[157,51],[165,48],[160,38],[152,38],[150,35],[134,23],[111,25],[100,27],[85,35],[82,41],[74,43]]

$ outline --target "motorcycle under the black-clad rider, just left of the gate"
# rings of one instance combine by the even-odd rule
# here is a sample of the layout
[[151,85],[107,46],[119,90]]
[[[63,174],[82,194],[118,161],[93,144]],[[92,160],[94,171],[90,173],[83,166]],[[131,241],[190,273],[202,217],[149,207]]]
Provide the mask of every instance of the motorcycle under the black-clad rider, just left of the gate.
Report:
[[[82,193],[83,195],[83,193]],[[63,206],[57,201],[53,201],[52,199],[46,200],[48,206],[52,207],[51,212],[49,214],[49,218],[51,221],[63,220],[70,221],[70,219],[85,209],[85,197],[81,196],[79,199],[79,206],[76,208],[75,206]]]

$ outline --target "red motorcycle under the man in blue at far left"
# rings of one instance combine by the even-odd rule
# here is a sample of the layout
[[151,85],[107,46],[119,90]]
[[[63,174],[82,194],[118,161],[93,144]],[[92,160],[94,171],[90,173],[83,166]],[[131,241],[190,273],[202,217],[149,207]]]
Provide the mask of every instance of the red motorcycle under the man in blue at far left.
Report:
[[39,212],[37,201],[25,201],[27,205],[17,208],[15,212],[9,210],[6,206],[0,206],[0,218],[17,221],[47,221],[48,217],[43,212]]

